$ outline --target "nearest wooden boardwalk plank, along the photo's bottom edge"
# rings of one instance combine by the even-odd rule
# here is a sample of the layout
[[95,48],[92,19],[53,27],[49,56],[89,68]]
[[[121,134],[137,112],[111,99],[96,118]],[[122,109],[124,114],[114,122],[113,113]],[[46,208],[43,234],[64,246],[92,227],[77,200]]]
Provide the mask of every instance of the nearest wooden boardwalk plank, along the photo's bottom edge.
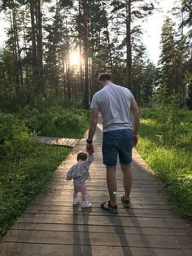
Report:
[[191,256],[191,249],[135,248],[95,245],[47,245],[4,242],[1,256]]

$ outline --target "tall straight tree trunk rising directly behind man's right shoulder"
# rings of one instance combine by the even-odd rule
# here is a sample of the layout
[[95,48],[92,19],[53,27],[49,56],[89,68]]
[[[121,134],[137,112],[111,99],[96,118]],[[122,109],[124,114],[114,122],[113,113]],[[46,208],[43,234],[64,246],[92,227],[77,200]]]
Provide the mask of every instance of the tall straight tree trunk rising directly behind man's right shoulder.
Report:
[[126,0],[126,41],[127,41],[127,61],[126,61],[126,83],[129,90],[133,90],[132,78],[132,45],[131,45],[131,0]]

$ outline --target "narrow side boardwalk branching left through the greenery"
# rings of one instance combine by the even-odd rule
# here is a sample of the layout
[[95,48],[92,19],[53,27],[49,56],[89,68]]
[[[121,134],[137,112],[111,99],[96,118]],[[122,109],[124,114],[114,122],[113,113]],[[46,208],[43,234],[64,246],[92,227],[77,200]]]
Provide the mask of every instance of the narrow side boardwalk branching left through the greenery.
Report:
[[67,138],[55,138],[55,137],[44,137],[36,136],[36,139],[41,143],[55,145],[55,146],[65,146],[69,148],[74,148],[79,139],[67,139]]

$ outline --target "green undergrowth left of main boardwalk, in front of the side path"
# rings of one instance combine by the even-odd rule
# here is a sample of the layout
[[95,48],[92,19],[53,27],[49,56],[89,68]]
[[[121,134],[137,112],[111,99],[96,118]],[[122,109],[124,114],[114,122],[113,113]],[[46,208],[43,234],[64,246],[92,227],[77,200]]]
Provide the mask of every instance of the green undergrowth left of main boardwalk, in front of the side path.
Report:
[[70,149],[37,143],[24,121],[0,113],[0,236],[50,180]]

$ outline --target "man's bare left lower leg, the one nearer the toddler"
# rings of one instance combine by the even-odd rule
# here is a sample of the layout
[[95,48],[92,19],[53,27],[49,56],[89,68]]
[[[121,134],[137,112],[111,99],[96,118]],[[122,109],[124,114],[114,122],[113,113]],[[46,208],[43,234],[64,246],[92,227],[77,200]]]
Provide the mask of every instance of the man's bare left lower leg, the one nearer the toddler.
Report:
[[116,166],[106,166],[107,188],[109,191],[111,205],[116,205]]

